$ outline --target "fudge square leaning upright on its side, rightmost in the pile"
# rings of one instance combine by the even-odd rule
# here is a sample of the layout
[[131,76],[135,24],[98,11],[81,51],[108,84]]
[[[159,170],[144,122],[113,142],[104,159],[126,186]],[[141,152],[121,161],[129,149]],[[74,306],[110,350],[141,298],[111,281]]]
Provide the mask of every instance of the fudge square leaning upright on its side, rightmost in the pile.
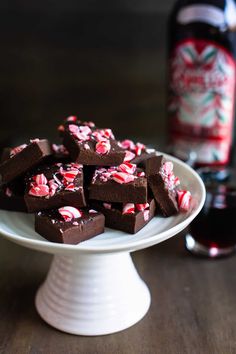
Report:
[[178,177],[173,173],[173,163],[165,161],[162,155],[146,160],[146,175],[157,206],[164,216],[179,211],[177,202]]

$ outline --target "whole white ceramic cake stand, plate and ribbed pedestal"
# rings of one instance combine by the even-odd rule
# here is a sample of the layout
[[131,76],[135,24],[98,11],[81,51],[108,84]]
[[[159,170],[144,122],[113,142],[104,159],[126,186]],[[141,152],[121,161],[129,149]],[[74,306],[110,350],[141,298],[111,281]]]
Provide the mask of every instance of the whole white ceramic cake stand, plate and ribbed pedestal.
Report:
[[36,295],[37,311],[47,323],[68,333],[103,335],[128,328],[146,314],[150,293],[130,252],[183,230],[205,200],[205,188],[197,173],[180,160],[167,157],[192,193],[192,209],[174,217],[157,216],[136,235],[106,229],[104,234],[77,246],[50,243],[34,231],[33,215],[0,211],[3,236],[55,255]]

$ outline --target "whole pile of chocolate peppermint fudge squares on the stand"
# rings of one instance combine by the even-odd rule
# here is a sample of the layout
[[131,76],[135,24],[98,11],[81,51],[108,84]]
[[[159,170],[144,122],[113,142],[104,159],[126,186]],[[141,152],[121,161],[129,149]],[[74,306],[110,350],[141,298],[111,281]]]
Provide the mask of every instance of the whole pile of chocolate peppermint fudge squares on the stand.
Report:
[[0,208],[35,213],[47,240],[78,244],[104,225],[135,234],[155,214],[189,210],[190,192],[155,150],[76,116],[58,131],[61,145],[33,139],[5,148],[0,164]]

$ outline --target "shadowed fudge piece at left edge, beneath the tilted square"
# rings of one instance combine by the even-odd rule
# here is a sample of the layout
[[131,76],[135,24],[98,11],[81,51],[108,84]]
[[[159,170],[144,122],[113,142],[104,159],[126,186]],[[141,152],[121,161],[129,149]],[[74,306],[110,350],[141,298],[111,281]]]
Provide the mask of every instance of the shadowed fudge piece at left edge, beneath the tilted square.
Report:
[[19,178],[9,185],[0,187],[0,209],[27,211],[24,200],[24,179]]

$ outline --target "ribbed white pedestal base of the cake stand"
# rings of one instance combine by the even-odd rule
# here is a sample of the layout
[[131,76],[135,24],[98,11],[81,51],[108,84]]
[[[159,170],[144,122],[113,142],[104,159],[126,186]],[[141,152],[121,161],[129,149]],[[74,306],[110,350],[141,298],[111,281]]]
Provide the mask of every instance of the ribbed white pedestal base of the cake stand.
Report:
[[36,308],[64,332],[102,335],[128,328],[148,311],[150,293],[128,252],[55,256]]

